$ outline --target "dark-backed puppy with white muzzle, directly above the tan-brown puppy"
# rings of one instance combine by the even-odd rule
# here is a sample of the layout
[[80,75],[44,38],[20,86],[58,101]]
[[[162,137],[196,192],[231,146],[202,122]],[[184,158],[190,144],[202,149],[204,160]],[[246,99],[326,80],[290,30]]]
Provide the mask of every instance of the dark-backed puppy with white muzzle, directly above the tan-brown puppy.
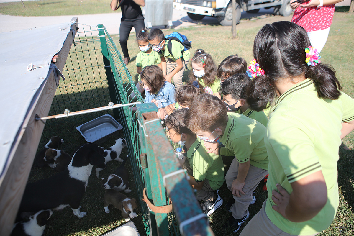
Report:
[[105,189],[114,189],[116,191],[131,192],[129,189],[129,172],[124,167],[125,162],[129,156],[126,156],[120,167],[118,167],[114,174],[108,176],[107,182],[103,184]]

